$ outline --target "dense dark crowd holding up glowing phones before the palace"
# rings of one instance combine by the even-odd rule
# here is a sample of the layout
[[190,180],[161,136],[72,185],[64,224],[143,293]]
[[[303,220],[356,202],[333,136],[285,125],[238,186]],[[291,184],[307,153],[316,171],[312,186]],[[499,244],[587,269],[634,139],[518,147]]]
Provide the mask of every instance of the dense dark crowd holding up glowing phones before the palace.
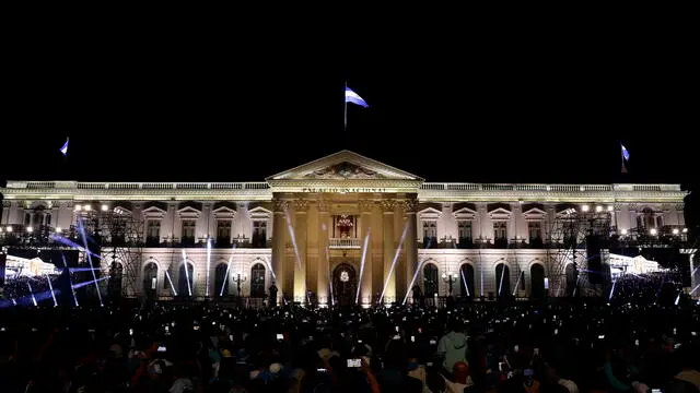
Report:
[[700,392],[700,306],[0,310],[0,392]]

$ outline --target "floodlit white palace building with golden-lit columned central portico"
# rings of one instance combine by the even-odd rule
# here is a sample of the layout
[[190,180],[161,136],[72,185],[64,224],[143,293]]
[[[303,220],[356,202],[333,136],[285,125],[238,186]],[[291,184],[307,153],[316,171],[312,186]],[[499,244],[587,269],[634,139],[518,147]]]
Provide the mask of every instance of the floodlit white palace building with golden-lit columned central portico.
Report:
[[83,225],[112,290],[162,299],[265,298],[272,285],[322,306],[401,302],[415,287],[563,296],[585,281],[574,277],[592,247],[605,265],[614,247],[687,235],[678,184],[433,183],[349,151],[260,182],[8,181],[0,192],[3,239],[80,247]]

